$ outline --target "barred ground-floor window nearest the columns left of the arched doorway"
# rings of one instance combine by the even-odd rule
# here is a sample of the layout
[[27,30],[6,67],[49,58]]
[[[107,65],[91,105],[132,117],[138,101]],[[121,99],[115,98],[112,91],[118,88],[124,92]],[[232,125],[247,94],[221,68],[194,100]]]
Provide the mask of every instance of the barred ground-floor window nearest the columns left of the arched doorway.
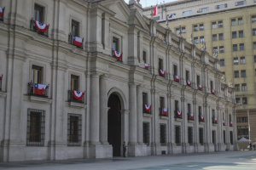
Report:
[[81,145],[82,118],[81,115],[69,113],[67,116],[67,145]]

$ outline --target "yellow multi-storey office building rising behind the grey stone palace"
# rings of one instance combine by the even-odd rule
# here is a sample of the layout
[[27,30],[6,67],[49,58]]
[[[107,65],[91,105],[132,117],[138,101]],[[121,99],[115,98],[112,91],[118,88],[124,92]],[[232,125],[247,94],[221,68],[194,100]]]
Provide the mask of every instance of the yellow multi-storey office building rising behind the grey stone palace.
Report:
[[[151,17],[151,7],[143,8],[143,14]],[[256,142],[256,0],[161,4],[154,19],[166,26],[166,17],[173,33],[179,34],[181,26],[188,42],[197,48],[206,42],[208,53],[218,51],[225,82],[236,89],[237,137]]]

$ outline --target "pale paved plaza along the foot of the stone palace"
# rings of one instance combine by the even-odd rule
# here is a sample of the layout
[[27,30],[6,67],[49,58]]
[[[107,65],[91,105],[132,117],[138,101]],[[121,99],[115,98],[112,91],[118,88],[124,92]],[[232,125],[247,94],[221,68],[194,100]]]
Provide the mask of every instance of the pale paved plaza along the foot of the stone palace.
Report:
[[256,169],[256,151],[229,151],[163,156],[114,157],[111,159],[74,159],[67,161],[1,162],[2,169]]

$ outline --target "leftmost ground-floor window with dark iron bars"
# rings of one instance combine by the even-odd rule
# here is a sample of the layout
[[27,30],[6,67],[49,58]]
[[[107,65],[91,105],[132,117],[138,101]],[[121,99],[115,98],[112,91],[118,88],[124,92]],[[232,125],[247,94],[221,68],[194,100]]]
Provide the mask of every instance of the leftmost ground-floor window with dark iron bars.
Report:
[[27,109],[27,145],[44,145],[45,111]]

